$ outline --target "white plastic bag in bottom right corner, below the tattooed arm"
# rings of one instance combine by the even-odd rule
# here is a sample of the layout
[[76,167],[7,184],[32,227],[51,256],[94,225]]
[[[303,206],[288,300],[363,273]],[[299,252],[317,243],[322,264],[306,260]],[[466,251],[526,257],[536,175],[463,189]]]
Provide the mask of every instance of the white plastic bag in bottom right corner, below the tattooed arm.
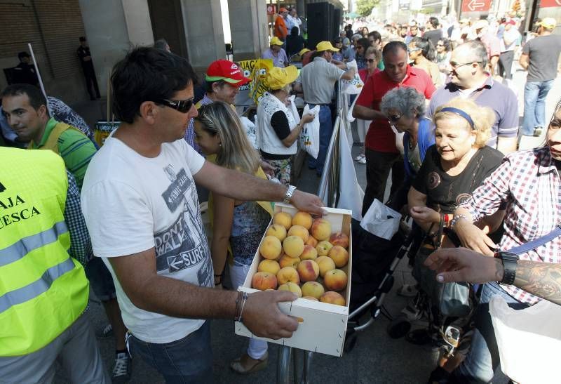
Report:
[[495,296],[489,312],[503,373],[516,383],[558,383],[561,306],[541,300],[524,310],[513,310]]

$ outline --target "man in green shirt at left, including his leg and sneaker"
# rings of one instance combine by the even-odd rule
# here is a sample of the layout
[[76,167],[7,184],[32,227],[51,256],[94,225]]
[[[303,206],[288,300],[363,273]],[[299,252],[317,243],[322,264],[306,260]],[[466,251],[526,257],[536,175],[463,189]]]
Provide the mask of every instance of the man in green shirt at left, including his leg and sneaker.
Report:
[[[36,86],[13,84],[2,92],[2,108],[8,124],[18,134],[18,139],[24,143],[29,142],[28,149],[52,150],[60,154],[67,170],[72,173],[81,189],[88,164],[97,152],[95,145],[78,128],[50,117],[46,105],[45,96]],[[86,241],[90,241],[89,237]],[[113,377],[128,380],[130,357],[125,346],[126,328],[121,319],[111,274],[97,258],[88,263],[86,274],[109,319],[109,324],[100,332],[100,336],[109,336],[112,331],[115,337]],[[107,332],[109,329],[111,331]]]

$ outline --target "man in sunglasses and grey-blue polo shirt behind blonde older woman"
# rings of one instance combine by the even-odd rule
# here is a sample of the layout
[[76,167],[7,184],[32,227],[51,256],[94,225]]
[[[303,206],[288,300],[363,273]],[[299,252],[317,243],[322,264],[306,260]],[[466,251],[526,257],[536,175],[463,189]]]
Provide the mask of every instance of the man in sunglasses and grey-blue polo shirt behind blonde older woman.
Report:
[[487,48],[481,41],[468,41],[457,46],[450,56],[450,83],[434,93],[428,106],[428,116],[436,108],[456,97],[471,98],[482,107],[495,112],[489,147],[508,154],[518,141],[518,98],[486,72]]

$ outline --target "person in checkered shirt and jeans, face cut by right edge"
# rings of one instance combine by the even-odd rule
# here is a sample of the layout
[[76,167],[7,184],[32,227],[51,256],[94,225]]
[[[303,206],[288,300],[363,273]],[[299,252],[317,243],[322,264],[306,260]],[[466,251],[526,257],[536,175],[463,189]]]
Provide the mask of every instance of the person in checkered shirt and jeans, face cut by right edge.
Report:
[[[508,154],[501,166],[478,187],[454,212],[452,229],[464,246],[493,256],[494,250],[509,249],[540,239],[552,232],[561,223],[561,102],[557,103],[550,121],[546,145],[532,150]],[[473,223],[482,218],[496,215],[496,211],[506,206],[504,235],[500,242],[487,237]],[[519,255],[520,260],[538,263],[561,263],[561,237],[554,237],[541,246]],[[504,259],[503,259],[504,260]],[[504,262],[506,267],[506,262]],[[509,269],[516,270],[511,261]],[[511,279],[516,277],[511,273]],[[511,282],[487,283],[483,286],[480,299],[480,313],[475,323],[477,331],[473,335],[471,350],[464,364],[454,371],[454,378],[460,382],[473,380],[489,381],[494,368],[499,363],[491,319],[485,303],[493,296],[502,296],[509,306],[520,309],[534,305],[539,298],[527,291],[508,285]],[[507,284],[507,285],[503,285]],[[543,286],[542,294],[553,293],[555,286]]]

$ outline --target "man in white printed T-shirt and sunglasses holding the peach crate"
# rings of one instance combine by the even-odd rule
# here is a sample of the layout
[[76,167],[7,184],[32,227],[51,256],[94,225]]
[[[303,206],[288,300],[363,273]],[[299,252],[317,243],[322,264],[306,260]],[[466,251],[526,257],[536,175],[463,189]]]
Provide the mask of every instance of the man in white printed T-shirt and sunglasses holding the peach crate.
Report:
[[231,199],[323,213],[318,197],[211,164],[183,140],[198,115],[195,79],[187,60],[156,48],[135,48],[116,64],[111,84],[121,125],[90,162],[81,194],[94,253],[116,286],[129,351],[166,382],[212,382],[206,319],[235,319],[267,338],[288,338],[298,324],[278,309],[293,293],[214,289],[195,183]]

